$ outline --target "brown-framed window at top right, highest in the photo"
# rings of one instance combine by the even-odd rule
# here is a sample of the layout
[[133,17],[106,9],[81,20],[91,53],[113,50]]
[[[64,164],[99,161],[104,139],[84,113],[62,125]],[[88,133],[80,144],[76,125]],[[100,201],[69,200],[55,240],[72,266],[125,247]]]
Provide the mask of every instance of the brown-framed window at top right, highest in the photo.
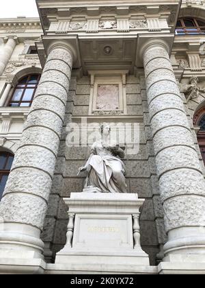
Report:
[[176,34],[205,34],[205,21],[195,18],[178,19],[176,23]]

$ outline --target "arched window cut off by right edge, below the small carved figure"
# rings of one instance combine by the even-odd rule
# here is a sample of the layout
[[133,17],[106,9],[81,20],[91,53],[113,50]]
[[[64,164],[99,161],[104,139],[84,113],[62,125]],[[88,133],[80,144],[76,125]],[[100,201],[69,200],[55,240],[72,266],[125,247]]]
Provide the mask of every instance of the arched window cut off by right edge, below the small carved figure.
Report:
[[201,108],[193,117],[193,125],[198,126],[200,130],[197,132],[197,141],[205,165],[205,108]]

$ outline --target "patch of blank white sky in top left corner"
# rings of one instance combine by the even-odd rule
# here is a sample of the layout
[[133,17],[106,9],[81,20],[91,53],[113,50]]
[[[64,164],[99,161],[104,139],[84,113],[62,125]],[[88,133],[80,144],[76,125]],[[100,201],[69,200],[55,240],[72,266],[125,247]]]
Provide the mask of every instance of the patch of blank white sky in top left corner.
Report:
[[38,17],[35,0],[0,0],[0,18]]

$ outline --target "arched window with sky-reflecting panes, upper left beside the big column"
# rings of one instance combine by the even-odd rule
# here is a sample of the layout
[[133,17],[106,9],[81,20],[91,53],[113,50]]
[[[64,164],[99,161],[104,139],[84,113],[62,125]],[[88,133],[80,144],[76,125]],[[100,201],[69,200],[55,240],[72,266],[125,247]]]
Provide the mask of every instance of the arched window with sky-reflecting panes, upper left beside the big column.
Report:
[[18,84],[14,88],[8,106],[12,107],[31,106],[33,96],[36,92],[39,80],[40,80],[40,74],[31,74],[20,79]]

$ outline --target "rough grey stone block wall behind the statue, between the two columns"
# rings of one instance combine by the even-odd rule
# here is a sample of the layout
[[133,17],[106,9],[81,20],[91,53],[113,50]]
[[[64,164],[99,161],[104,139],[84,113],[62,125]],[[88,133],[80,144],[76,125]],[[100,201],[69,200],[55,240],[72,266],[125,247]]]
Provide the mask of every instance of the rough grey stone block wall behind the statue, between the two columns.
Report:
[[[78,168],[85,164],[89,155],[89,148],[66,147],[66,125],[72,116],[87,116],[90,100],[90,77],[80,80],[72,78],[64,130],[61,135],[52,193],[49,200],[49,209],[46,215],[42,239],[46,244],[45,255],[51,261],[55,253],[64,247],[66,242],[66,226],[68,217],[66,205],[62,198],[69,197],[71,192],[81,192],[85,175],[77,176]],[[145,86],[133,75],[127,77],[126,100],[128,115],[141,118],[139,153],[126,154],[126,181],[129,193],[138,193],[145,198],[141,210],[140,228],[141,245],[150,256],[151,265],[156,263],[156,254],[159,252],[159,243],[163,243],[163,213],[159,200],[159,190],[156,180],[154,152],[150,138],[150,125],[148,119]]]

